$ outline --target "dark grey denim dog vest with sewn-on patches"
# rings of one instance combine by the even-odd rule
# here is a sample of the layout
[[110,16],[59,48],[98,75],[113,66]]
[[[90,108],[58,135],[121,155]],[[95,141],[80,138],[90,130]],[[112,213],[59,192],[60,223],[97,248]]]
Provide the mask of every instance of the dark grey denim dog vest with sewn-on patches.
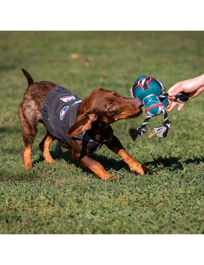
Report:
[[[69,145],[67,131],[77,120],[77,110],[81,102],[82,100],[67,88],[54,86],[48,92],[42,106],[43,123],[47,130]],[[74,138],[82,139],[83,147],[94,148],[93,152],[97,152],[112,135],[113,129],[108,126],[102,143],[92,140],[86,131],[79,133]]]

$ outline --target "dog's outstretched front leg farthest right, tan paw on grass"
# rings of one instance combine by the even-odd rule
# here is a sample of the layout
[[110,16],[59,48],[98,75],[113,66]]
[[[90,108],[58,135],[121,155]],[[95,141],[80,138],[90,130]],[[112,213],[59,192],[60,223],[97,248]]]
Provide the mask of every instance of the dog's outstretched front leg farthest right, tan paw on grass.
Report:
[[124,162],[128,164],[131,171],[136,172],[140,175],[145,175],[150,172],[150,170],[145,165],[139,163],[127,153],[127,151],[124,149],[119,139],[115,135],[113,135],[113,137],[110,138],[105,144],[111,151],[120,156],[124,160]]

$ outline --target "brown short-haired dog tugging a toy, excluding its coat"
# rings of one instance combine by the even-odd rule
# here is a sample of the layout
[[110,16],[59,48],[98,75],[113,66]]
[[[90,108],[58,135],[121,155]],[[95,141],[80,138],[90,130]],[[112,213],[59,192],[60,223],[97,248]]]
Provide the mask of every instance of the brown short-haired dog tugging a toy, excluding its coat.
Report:
[[[37,123],[43,122],[42,106],[48,92],[57,85],[48,81],[33,83],[29,73],[23,70],[29,82],[23,102],[19,107],[19,117],[23,129],[24,148],[22,150],[22,158],[24,160],[25,169],[32,169],[31,163],[31,147],[37,132]],[[61,87],[59,87],[61,88]],[[61,88],[63,89],[63,88]],[[133,159],[115,135],[106,139],[106,129],[110,124],[117,120],[128,120],[138,117],[142,114],[142,101],[135,98],[124,98],[117,91],[96,88],[91,95],[83,100],[77,109],[76,122],[67,132],[67,140],[70,144],[65,143],[56,138],[47,130],[47,134],[40,143],[40,149],[43,152],[45,161],[55,162],[50,155],[50,144],[57,139],[60,145],[67,149],[72,149],[72,158],[77,159],[80,164],[90,169],[99,179],[115,179],[116,177],[108,173],[104,167],[97,161],[88,157],[93,153],[94,148],[84,146],[84,139],[75,136],[87,131],[87,135],[95,142],[106,144],[106,146],[120,156],[130,167],[130,170],[144,175],[149,169]],[[46,111],[46,109],[45,109]],[[112,130],[112,129],[111,129]],[[85,133],[85,132],[84,132]],[[91,140],[91,141],[92,141]]]

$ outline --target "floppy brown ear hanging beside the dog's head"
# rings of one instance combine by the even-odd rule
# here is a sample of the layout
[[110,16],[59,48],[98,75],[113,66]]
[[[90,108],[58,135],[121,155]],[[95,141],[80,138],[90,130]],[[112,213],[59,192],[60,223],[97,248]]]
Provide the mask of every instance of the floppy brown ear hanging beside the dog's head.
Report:
[[75,124],[69,128],[67,136],[76,136],[80,132],[91,129],[92,122],[97,119],[97,115],[93,112],[86,111],[84,114],[79,116]]

